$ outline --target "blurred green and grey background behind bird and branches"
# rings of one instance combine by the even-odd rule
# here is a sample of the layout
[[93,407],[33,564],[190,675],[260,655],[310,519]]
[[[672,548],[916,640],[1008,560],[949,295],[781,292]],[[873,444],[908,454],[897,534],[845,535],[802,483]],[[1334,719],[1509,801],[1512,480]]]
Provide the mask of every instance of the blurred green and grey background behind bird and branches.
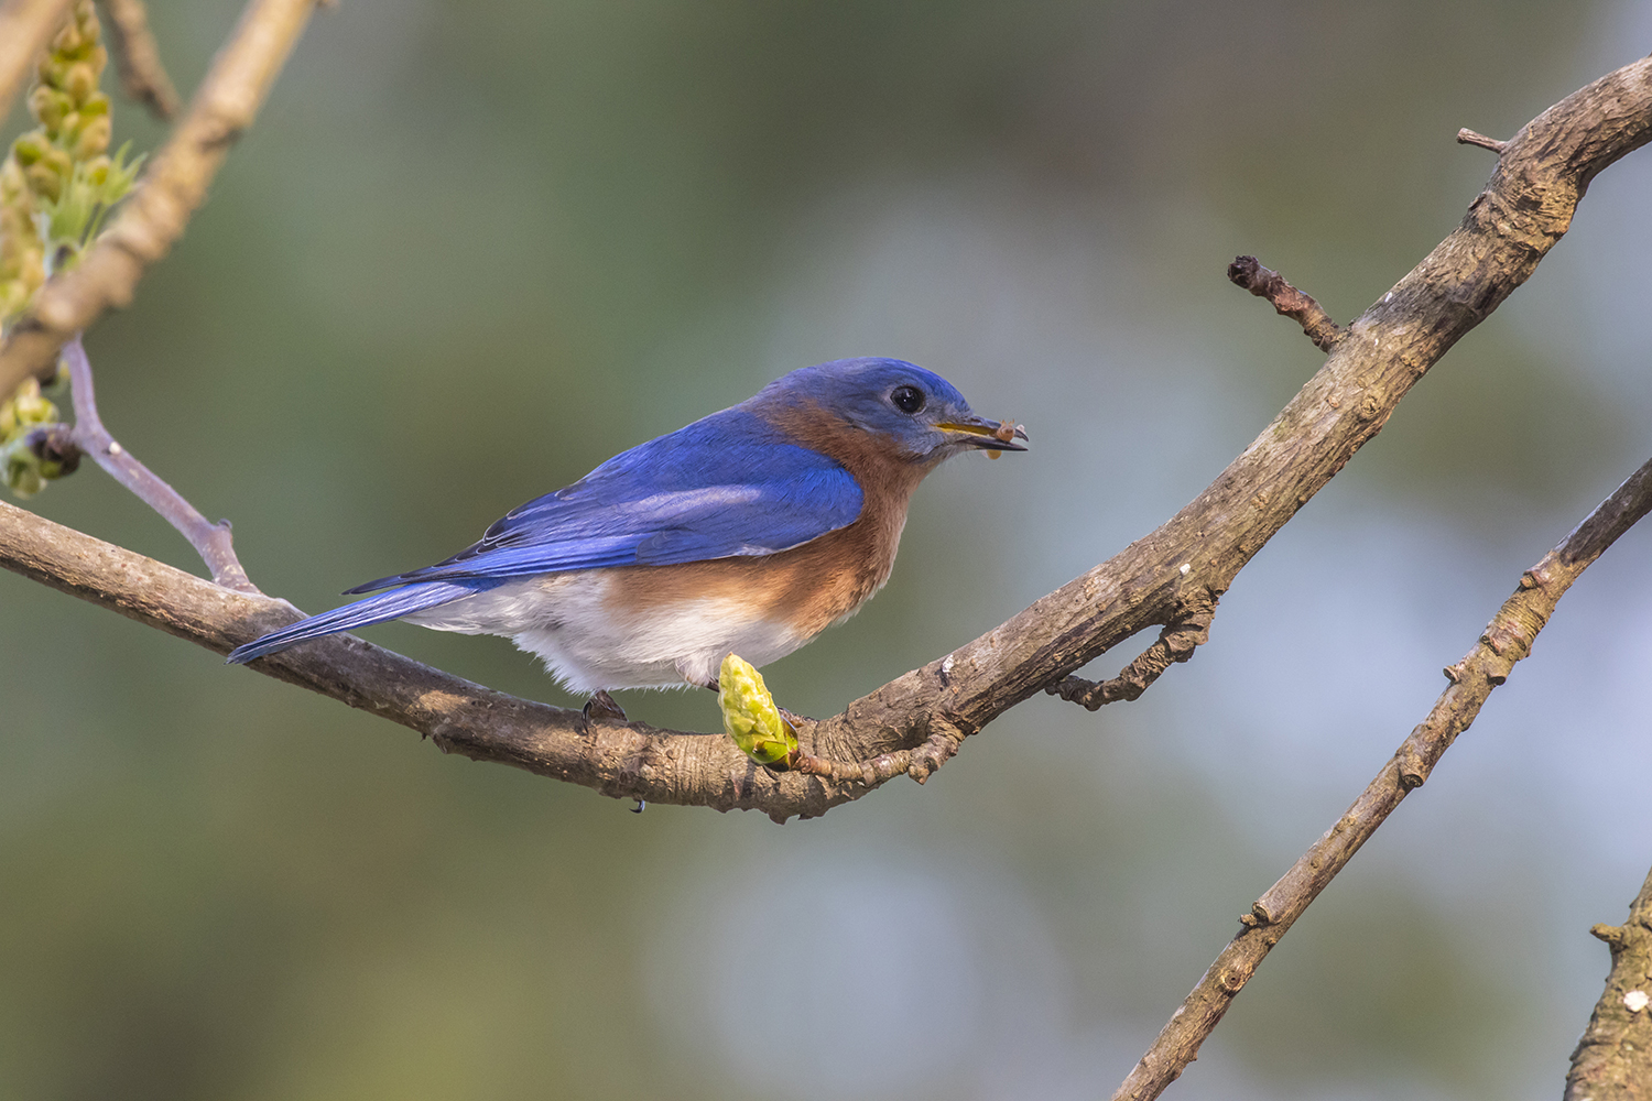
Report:
[[[152,8],[185,92],[235,18]],[[342,0],[88,345],[116,436],[311,611],[790,368],[923,363],[1034,447],[938,472],[890,586],[767,670],[831,713],[1171,515],[1295,391],[1320,355],[1236,253],[1346,320],[1488,175],[1457,127],[1649,48],[1645,0]],[[124,106],[126,137],[162,130]],[[1142,702],[1032,700],[818,822],[633,815],[0,574],[0,1096],[1107,1096],[1647,457],[1649,195],[1647,152],[1596,180]],[[96,469],[28,507],[200,569]],[[1171,1096],[1559,1094],[1586,929],[1652,860],[1649,553],[1566,598]],[[367,637],[570,702],[499,639]]]

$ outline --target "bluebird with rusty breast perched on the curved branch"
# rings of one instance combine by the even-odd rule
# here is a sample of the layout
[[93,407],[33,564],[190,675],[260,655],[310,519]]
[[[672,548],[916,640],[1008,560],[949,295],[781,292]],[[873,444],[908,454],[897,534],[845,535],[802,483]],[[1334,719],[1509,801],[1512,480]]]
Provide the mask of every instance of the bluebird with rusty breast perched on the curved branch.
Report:
[[715,688],[727,654],[765,665],[852,616],[889,579],[923,475],[1026,437],[914,363],[805,366],[230,662],[405,619],[504,636],[590,695],[586,715],[623,716],[613,688]]

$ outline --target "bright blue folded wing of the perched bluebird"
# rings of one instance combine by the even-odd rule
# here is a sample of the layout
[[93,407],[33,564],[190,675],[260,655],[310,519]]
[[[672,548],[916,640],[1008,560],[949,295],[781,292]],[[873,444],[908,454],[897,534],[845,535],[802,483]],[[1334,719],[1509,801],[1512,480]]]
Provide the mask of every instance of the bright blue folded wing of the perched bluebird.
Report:
[[861,487],[836,461],[783,442],[743,409],[724,409],[510,510],[448,561],[350,593],[773,555],[852,523],[861,502]]

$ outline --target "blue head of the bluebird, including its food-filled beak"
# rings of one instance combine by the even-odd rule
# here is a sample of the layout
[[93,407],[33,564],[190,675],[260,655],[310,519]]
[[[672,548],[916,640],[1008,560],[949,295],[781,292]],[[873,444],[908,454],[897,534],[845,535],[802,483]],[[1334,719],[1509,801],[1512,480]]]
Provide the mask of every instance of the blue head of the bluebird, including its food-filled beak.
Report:
[[[1014,426],[976,416],[952,383],[904,360],[833,360],[765,386],[753,409],[833,419],[894,444],[904,459],[940,462],[960,451],[1026,451]],[[796,423],[796,421],[793,421]]]

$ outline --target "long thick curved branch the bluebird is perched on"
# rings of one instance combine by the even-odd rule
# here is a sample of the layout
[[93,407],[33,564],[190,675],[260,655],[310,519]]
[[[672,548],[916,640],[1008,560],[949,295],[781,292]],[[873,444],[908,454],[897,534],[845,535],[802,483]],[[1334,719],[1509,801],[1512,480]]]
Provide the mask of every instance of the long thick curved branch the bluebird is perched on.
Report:
[[[1239,569],[1388,421],[1417,378],[1525,282],[1571,224],[1588,182],[1652,139],[1652,59],[1589,84],[1530,122],[1498,160],[1464,223],[1348,327],[1267,429],[1193,503],[1156,532],[1008,622],[897,677],[841,715],[803,723],[831,774],[776,774],[724,738],[598,726],[426,670],[375,647],[325,639],[254,662],[274,677],[423,730],[448,749],[651,802],[816,815],[899,774],[927,777],[961,741],[1061,683],[1137,631],[1214,604]],[[203,581],[66,528],[0,512],[0,565],[173,634],[226,650],[296,617],[278,601],[208,596]],[[96,545],[101,569],[59,543]],[[89,553],[89,551],[86,551]],[[124,555],[124,558],[121,558]],[[150,576],[134,593],[127,578]],[[206,586],[221,594],[221,589]],[[170,596],[169,596],[170,593]],[[178,607],[195,609],[188,614]],[[216,601],[216,602],[215,602]],[[211,612],[210,616],[206,612]],[[433,703],[434,702],[434,703]]]

